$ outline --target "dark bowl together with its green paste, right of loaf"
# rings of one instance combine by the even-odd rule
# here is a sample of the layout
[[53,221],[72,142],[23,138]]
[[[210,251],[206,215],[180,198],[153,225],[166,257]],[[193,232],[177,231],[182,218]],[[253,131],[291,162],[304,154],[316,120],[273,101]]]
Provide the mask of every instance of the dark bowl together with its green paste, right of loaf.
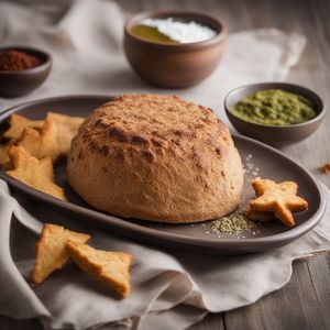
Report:
[[239,87],[226,97],[224,108],[240,133],[273,146],[308,138],[322,123],[326,112],[317,94],[286,82]]

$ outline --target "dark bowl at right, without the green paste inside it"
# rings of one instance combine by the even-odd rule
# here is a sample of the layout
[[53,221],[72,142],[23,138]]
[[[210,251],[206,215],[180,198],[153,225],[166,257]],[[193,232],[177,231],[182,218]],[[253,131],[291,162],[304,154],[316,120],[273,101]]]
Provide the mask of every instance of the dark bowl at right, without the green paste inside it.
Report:
[[[300,124],[276,127],[245,121],[231,112],[231,108],[242,98],[266,89],[282,89],[306,97],[314,103],[317,117]],[[224,109],[230,122],[240,133],[277,147],[297,143],[310,136],[320,127],[326,114],[323,102],[317,94],[302,86],[286,82],[264,82],[239,87],[227,95]]]

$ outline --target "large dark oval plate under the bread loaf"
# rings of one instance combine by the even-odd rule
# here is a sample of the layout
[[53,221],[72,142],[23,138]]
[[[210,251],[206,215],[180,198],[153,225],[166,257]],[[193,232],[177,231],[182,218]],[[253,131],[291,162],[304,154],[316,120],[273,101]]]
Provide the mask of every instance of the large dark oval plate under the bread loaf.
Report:
[[[31,119],[45,118],[47,111],[87,116],[109,99],[111,97],[70,96],[24,103],[1,113],[0,133],[6,130],[7,118],[13,112],[20,112]],[[315,227],[324,212],[326,201],[311,175],[282,153],[265,144],[248,138],[234,136],[233,139],[245,167],[242,207],[254,196],[250,182],[255,176],[275,180],[295,180],[299,185],[299,195],[309,201],[309,210],[295,215],[296,226],[294,228],[289,229],[279,221],[274,221],[257,224],[250,233],[234,235],[215,233],[210,229],[211,221],[195,224],[166,224],[112,217],[88,206],[70,189],[65,180],[65,160],[56,164],[55,176],[57,183],[65,187],[68,202],[32,189],[1,170],[0,177],[8,182],[12,188],[67,213],[70,218],[78,218],[79,221],[87,221],[92,226],[143,243],[176,250],[217,254],[264,252],[285,245]]]

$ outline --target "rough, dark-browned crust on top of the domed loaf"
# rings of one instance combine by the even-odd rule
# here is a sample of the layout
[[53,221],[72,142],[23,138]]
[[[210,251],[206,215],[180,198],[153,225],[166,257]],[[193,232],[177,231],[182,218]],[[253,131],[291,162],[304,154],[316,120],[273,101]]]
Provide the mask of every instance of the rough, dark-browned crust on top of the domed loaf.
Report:
[[[139,153],[153,162],[164,153],[199,163],[198,151],[208,146],[221,156],[232,143],[227,127],[212,110],[177,96],[127,95],[98,108],[80,128],[89,148],[107,156],[124,158]],[[81,138],[81,136],[80,136]]]

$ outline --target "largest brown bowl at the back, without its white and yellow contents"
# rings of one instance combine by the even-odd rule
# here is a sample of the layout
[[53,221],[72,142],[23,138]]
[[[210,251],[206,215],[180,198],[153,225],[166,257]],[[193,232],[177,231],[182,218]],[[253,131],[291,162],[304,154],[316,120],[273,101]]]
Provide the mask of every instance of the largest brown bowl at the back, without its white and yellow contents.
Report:
[[[195,43],[169,44],[151,42],[131,33],[144,19],[174,18],[211,28],[217,35]],[[223,23],[207,14],[186,11],[143,12],[131,18],[124,28],[124,52],[132,68],[152,85],[167,88],[194,86],[218,66],[227,32]]]

